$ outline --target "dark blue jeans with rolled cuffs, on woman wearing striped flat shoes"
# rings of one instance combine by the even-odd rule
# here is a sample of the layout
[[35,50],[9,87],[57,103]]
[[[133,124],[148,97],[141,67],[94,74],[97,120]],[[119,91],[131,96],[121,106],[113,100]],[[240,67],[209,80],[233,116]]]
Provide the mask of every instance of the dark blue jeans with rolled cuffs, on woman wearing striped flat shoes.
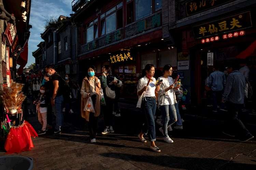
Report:
[[156,141],[156,129],[155,129],[155,119],[156,115],[156,98],[144,97],[142,101],[142,111],[145,115],[146,121],[142,126],[142,133],[148,133],[150,141]]

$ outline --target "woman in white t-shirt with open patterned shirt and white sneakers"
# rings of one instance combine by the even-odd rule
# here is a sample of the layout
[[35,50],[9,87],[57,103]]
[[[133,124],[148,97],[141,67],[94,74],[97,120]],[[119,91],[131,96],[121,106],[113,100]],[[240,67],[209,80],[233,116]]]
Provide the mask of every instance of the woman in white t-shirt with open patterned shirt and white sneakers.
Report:
[[177,121],[175,103],[176,97],[174,92],[174,82],[169,76],[172,75],[172,66],[165,65],[163,67],[163,76],[158,78],[162,80],[162,85],[158,93],[158,106],[162,113],[162,127],[159,131],[163,134],[163,140],[167,143],[173,143],[173,140],[168,136],[167,128]]

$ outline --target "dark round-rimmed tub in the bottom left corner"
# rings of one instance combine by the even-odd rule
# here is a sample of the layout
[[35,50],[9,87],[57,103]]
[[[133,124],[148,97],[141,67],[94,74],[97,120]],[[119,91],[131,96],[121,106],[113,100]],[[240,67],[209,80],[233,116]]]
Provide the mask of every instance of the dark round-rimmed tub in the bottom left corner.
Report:
[[30,157],[9,155],[0,156],[0,170],[32,170],[33,159]]

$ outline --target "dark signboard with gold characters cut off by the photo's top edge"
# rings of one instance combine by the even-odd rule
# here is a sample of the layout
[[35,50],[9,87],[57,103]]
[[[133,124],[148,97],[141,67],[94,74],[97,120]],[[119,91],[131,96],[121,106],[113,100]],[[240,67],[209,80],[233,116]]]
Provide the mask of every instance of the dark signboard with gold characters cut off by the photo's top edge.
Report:
[[190,0],[186,2],[187,16],[209,10],[210,8],[227,3],[232,0]]

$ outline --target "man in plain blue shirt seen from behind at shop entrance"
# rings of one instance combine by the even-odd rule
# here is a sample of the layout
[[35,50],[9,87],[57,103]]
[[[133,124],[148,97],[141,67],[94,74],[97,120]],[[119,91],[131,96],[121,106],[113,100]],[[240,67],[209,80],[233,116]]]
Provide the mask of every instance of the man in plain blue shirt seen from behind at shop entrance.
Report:
[[226,77],[224,72],[219,71],[218,65],[215,65],[214,70],[210,74],[207,86],[212,89],[213,112],[217,112],[217,104],[221,103],[221,95],[226,83]]

